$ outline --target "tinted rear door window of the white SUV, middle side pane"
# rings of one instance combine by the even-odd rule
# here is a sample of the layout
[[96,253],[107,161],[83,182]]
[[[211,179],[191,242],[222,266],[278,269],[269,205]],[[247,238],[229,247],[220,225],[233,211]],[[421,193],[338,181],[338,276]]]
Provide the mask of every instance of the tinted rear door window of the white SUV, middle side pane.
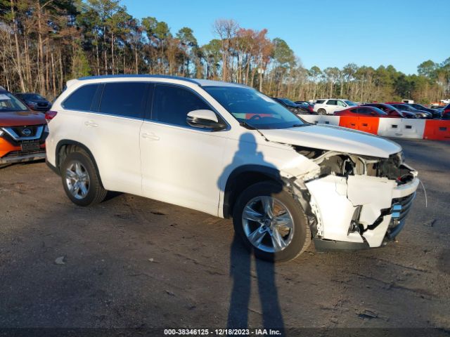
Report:
[[139,82],[105,84],[100,112],[143,119],[149,87],[149,84]]

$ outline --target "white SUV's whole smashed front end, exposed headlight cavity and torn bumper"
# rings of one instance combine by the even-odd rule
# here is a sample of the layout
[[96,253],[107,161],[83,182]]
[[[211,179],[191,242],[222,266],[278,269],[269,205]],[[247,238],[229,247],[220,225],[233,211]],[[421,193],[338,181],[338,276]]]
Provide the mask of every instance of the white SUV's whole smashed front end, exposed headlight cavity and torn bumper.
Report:
[[307,213],[316,249],[365,249],[399,234],[419,180],[402,153],[388,158],[295,147],[314,172],[286,181]]

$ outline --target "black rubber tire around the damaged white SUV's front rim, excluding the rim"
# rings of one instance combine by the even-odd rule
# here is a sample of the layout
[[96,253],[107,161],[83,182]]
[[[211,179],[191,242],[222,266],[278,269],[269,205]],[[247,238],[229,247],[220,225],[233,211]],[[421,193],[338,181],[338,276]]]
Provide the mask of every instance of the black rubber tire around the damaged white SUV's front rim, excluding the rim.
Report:
[[[250,242],[245,234],[243,227],[243,210],[245,205],[255,197],[264,196],[270,196],[281,201],[293,218],[293,237],[288,246],[285,246],[281,251],[268,252],[258,249]],[[261,258],[262,260],[269,260],[272,262],[292,260],[303,253],[311,243],[311,231],[309,230],[307,217],[304,214],[302,207],[295,201],[289,192],[283,190],[281,185],[271,181],[251,185],[240,194],[233,207],[233,225],[235,232],[243,240],[247,249],[253,252],[257,258]]]

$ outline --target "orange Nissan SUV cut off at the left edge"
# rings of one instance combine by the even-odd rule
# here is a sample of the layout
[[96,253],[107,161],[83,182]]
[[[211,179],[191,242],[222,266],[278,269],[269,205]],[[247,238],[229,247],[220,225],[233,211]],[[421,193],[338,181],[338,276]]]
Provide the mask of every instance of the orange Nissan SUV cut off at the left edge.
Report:
[[0,166],[45,158],[45,114],[30,110],[0,86]]

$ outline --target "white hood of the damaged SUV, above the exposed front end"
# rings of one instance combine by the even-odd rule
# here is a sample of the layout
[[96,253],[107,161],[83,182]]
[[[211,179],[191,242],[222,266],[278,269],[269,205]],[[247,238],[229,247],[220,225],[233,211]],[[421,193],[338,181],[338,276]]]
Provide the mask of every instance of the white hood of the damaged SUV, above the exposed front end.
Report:
[[391,140],[340,126],[308,125],[259,131],[267,140],[276,143],[363,156],[387,158],[401,151],[400,145]]

